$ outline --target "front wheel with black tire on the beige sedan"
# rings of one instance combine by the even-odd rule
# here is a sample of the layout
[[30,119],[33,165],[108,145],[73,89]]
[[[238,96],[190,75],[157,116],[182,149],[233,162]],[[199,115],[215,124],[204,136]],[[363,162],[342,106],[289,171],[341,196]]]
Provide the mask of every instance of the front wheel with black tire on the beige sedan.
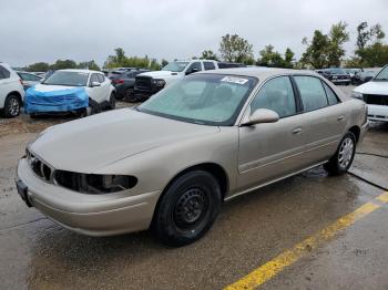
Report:
[[221,189],[214,176],[193,170],[180,176],[162,196],[152,230],[169,246],[184,246],[200,239],[215,221]]

